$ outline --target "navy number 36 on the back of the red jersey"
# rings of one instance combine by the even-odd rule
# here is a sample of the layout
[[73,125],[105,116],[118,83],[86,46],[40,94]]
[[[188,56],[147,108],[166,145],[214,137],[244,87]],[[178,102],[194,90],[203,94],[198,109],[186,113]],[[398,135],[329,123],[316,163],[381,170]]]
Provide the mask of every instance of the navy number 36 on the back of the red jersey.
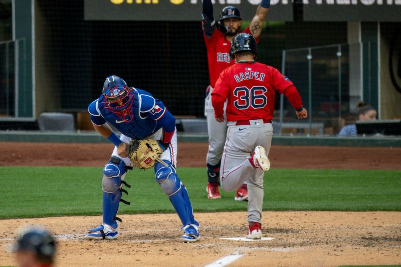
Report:
[[264,86],[254,86],[251,89],[246,86],[237,87],[233,92],[234,96],[238,97],[234,106],[237,109],[248,109],[250,106],[254,109],[264,108],[267,104],[266,92]]

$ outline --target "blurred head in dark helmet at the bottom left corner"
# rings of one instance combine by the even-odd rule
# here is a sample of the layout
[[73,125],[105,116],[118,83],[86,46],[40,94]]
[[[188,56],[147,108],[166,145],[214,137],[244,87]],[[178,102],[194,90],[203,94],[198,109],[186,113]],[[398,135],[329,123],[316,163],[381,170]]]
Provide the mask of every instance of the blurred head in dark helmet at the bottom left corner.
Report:
[[12,245],[18,267],[51,266],[56,252],[56,242],[50,232],[40,225],[23,226]]

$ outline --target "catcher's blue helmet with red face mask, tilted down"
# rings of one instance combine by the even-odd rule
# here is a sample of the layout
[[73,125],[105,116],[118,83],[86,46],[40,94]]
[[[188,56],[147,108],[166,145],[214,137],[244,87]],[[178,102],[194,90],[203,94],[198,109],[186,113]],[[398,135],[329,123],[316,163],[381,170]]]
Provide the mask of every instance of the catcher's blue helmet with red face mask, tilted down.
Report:
[[123,79],[115,75],[107,77],[103,84],[103,95],[102,104],[106,110],[116,114],[124,122],[132,121],[134,92]]

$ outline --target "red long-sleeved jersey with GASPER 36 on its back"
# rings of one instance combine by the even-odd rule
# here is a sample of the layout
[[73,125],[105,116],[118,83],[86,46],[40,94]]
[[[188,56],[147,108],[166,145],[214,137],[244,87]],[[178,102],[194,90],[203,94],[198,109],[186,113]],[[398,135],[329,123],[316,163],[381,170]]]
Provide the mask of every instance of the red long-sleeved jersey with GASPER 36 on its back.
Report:
[[215,115],[223,115],[224,101],[228,99],[228,121],[271,120],[276,91],[284,93],[295,109],[302,107],[295,86],[277,69],[253,61],[236,63],[225,69],[216,82],[212,92]]

